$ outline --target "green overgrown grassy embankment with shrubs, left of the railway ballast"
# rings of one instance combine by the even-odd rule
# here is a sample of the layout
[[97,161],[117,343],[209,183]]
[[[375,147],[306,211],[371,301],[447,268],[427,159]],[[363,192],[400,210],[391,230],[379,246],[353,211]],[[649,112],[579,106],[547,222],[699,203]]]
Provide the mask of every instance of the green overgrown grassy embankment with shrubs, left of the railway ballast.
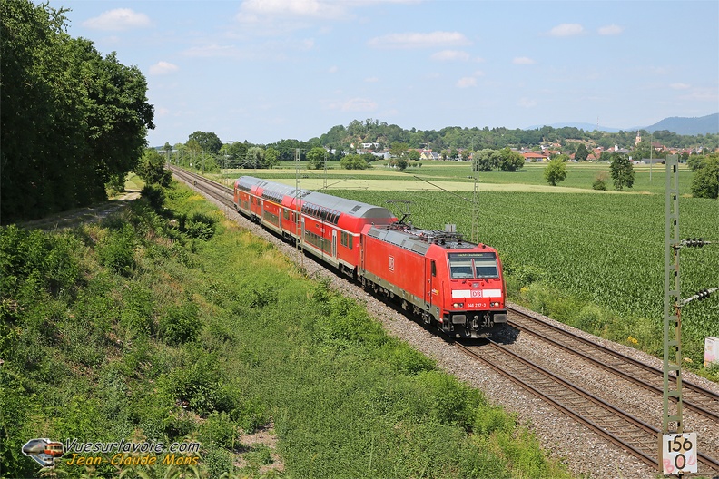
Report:
[[[38,474],[35,437],[202,444],[196,466],[84,454],[100,464],[65,456],[58,477],[568,476],[362,307],[192,191],[165,194],[160,212],[0,230],[0,476]],[[242,443],[262,427],[276,445]]]

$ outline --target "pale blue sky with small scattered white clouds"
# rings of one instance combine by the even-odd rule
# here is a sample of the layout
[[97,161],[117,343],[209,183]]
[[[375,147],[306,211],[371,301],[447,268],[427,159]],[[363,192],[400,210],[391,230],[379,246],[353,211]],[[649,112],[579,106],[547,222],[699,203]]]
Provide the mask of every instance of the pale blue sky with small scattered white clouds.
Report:
[[719,112],[719,2],[50,0],[148,81],[150,145]]

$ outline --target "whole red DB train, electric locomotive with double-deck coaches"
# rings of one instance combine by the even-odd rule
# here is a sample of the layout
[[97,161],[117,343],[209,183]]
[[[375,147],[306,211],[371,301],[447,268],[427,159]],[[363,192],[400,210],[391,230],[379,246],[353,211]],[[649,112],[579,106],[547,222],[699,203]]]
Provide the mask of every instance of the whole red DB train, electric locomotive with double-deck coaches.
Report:
[[235,181],[234,205],[450,336],[488,337],[507,322],[502,265],[487,245],[419,230],[386,208],[251,176]]

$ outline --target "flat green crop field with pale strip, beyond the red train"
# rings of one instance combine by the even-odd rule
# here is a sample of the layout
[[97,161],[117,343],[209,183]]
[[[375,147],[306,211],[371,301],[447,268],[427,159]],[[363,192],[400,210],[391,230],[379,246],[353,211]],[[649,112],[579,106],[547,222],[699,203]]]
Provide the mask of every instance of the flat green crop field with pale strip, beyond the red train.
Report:
[[[633,189],[602,194],[594,194],[591,183],[604,172],[611,188],[606,163],[568,164],[567,179],[560,187],[549,187],[544,181],[545,166],[479,173],[477,239],[499,249],[512,278],[513,299],[574,326],[659,354],[665,166],[654,165],[651,172],[648,165],[637,166]],[[302,186],[320,189],[322,172],[303,171]],[[294,184],[294,171],[289,169],[263,173],[255,174]],[[331,194],[378,205],[411,200],[411,220],[416,225],[441,230],[455,223],[468,239],[471,235],[474,183],[468,179],[467,163],[425,162],[405,173],[384,167],[360,174],[328,173]],[[719,241],[719,204],[688,196],[691,175],[684,166],[680,169],[681,237]],[[684,298],[719,286],[719,244],[682,249],[681,258]],[[719,332],[718,299],[695,301],[683,309],[685,355],[695,366],[703,360],[704,336]]]

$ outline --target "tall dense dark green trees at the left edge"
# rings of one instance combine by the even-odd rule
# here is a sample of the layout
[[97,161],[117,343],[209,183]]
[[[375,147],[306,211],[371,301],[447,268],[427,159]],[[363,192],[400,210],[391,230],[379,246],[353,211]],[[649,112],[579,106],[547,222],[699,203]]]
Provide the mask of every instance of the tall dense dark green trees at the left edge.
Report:
[[4,223],[104,200],[105,183],[133,170],[154,128],[143,74],[71,38],[63,14],[0,4]]

